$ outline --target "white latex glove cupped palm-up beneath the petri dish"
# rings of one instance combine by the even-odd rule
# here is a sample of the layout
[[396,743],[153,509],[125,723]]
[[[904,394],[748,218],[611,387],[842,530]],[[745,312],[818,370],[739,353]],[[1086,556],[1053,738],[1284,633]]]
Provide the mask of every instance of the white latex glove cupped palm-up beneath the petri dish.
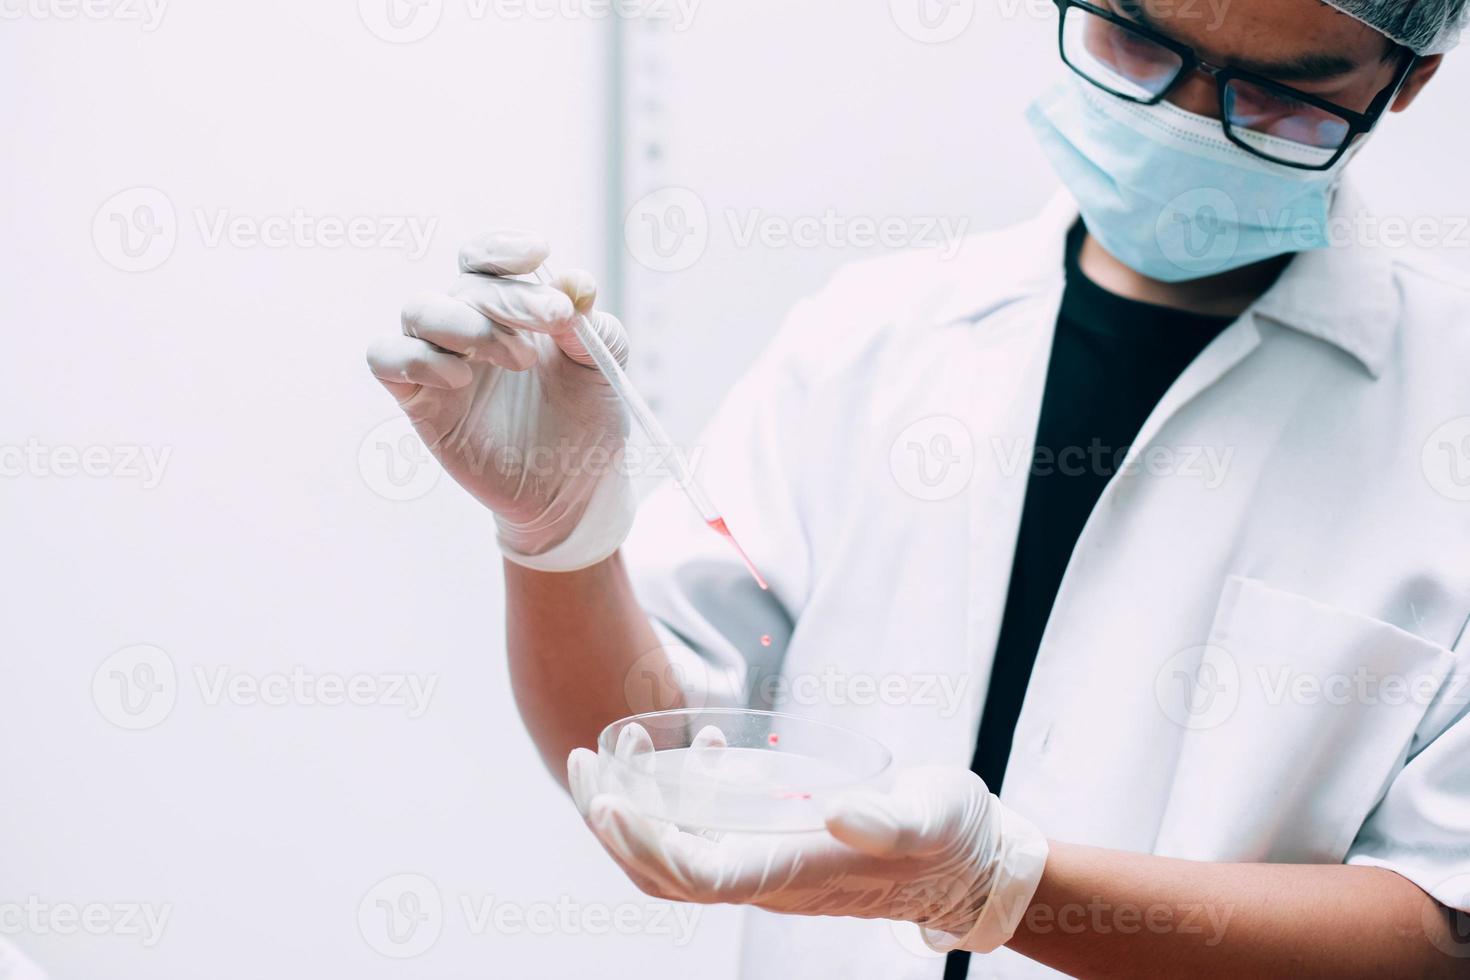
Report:
[[[704,763],[723,736],[695,739]],[[653,752],[629,726],[617,755]],[[572,798],[632,882],[675,902],[756,905],[794,915],[917,923],[939,952],[991,952],[1016,932],[1041,882],[1047,840],[963,768],[900,773],[891,792],[853,792],[826,807],[814,833],[689,833],[639,813],[597,754],[567,760]],[[647,810],[647,807],[644,807]]]

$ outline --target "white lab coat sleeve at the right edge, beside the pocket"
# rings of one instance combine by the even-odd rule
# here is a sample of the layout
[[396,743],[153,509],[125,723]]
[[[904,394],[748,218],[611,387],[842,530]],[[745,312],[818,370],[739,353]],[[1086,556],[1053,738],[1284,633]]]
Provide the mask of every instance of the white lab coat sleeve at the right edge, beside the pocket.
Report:
[[1347,862],[1396,871],[1470,912],[1470,638]]

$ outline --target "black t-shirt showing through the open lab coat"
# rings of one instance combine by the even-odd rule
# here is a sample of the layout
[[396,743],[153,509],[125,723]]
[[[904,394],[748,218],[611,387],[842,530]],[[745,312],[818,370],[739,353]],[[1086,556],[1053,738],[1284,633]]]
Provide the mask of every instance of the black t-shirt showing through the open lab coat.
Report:
[[[1005,777],[1036,648],[1082,526],[1160,398],[1230,325],[1227,317],[1125,300],[1101,288],[1078,264],[1085,235],[1080,222],[1067,235],[1067,287],[970,765],[995,793]],[[950,954],[945,979],[963,977],[967,959],[969,954]]]

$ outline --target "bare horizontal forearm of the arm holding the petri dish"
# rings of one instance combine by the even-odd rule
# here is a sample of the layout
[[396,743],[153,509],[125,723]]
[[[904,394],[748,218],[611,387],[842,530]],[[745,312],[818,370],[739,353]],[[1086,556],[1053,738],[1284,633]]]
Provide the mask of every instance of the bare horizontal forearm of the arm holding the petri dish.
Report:
[[[1444,930],[1435,936],[1435,930]],[[1348,865],[1207,864],[1053,843],[1011,949],[1076,977],[1466,977],[1444,909]]]

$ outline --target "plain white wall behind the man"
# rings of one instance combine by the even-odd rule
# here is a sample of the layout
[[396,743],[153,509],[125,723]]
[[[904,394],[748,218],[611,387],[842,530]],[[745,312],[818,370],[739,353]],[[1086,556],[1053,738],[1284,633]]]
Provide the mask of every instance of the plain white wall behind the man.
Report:
[[[726,210],[978,231],[1050,188],[1019,113],[1054,76],[1053,28],[1025,4],[970,6],[926,44],[883,4],[709,0],[688,29],[625,25],[616,125],[609,22],[425,4],[395,32],[381,0],[173,0],[153,29],[125,19],[143,7],[0,3],[0,447],[38,460],[0,478],[0,907],[171,915],[151,948],[0,920],[54,977],[731,976],[735,917],[704,911],[692,934],[653,918],[541,771],[509,696],[491,523],[416,467],[362,348],[448,282],[467,235],[541,229],[563,264],[625,272],[639,372],[689,433],[781,310],[872,251],[742,247]],[[1361,160],[1383,210],[1470,213],[1449,125],[1466,69]],[[710,220],[673,273],[604,234],[664,187]],[[122,251],[115,220],[148,223],[141,204],[172,248],[134,228],[151,244]],[[210,235],[295,213],[368,219],[370,241]],[[432,226],[422,254],[382,238],[397,219]],[[107,475],[53,472],[93,447]],[[134,451],[162,479],[132,475]],[[112,673],[135,676],[135,645],[176,691],[125,730]],[[210,704],[220,676],[297,667],[437,688],[416,718]],[[359,929],[395,874],[444,904],[417,959]],[[476,930],[462,899],[622,908],[634,934]]]

